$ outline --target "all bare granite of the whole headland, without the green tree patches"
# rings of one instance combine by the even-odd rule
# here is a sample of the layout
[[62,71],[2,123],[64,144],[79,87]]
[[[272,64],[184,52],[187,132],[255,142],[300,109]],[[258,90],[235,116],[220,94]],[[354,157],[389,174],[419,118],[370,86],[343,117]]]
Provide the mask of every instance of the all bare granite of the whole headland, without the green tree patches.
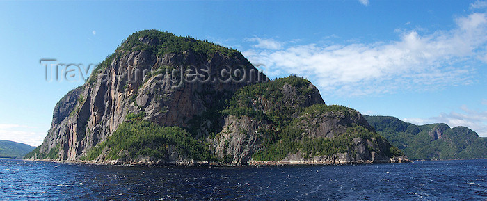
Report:
[[[226,163],[266,163],[254,161],[253,154],[266,149],[262,142],[262,131],[279,132],[276,127],[280,122],[248,115],[215,115],[223,109],[218,107],[222,107],[237,90],[266,82],[266,76],[258,72],[238,51],[209,43],[203,43],[200,47],[201,44],[191,38],[177,38],[170,33],[157,32],[155,35],[162,35],[159,37],[153,33],[134,33],[127,38],[112,56],[99,65],[83,86],[67,93],[56,104],[51,129],[45,142],[40,146],[39,154],[45,155],[58,146],[59,152],[54,153],[55,161],[79,161],[86,156],[88,150],[111,136],[128,117],[136,116],[163,127],[177,126],[190,130],[193,138],[207,145],[218,159]],[[168,42],[165,37],[175,37],[173,40],[180,40],[183,44],[188,41],[193,43],[187,43],[186,45],[189,45],[186,49],[164,49]],[[239,70],[248,80],[225,81],[221,76],[224,70],[232,73]],[[198,74],[195,74],[196,72]],[[200,81],[191,81],[192,79]],[[240,78],[233,74],[226,79]],[[303,114],[302,108],[324,104],[319,90],[311,83],[305,86],[284,83],[275,90],[278,90],[280,95],[278,102],[266,95],[257,95],[251,98],[248,107],[265,115],[285,112],[287,120],[301,118],[298,127],[311,138],[334,138],[344,134],[347,128],[354,125],[361,125],[373,131],[362,115],[353,110],[349,112],[352,115],[340,112]],[[354,138],[353,146],[344,153],[332,156],[289,153],[285,159],[275,162],[338,164],[407,161],[403,157],[386,156],[385,150],[389,148],[390,144],[383,139]],[[370,151],[371,149],[374,151]],[[165,158],[137,156],[109,159],[107,155],[110,150],[105,149],[90,163],[211,163],[189,159],[179,151],[177,147],[170,145],[164,154]],[[33,156],[33,159],[36,158],[38,155]]]

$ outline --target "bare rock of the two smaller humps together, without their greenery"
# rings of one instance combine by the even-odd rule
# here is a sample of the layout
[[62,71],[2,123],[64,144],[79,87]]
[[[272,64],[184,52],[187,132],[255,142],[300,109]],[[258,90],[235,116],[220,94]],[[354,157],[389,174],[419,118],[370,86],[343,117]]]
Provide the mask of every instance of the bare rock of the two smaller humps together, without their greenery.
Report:
[[[289,82],[293,82],[294,78],[290,78]],[[271,82],[282,82],[287,79]],[[269,83],[271,86],[276,86],[275,83]],[[250,96],[247,101],[237,101],[241,108],[236,111],[246,111],[247,109],[262,111],[264,114],[271,114],[276,111],[285,112],[292,118],[289,121],[294,122],[298,120],[296,127],[303,131],[302,138],[335,138],[346,136],[349,128],[363,127],[369,132],[374,132],[374,129],[367,123],[367,120],[351,108],[343,106],[327,107],[324,104],[321,95],[316,87],[311,83],[308,86],[304,83],[297,83],[303,85],[297,88],[289,83],[284,83],[278,88],[245,88],[244,92],[257,92],[255,96]],[[271,87],[269,86],[269,87]],[[264,94],[260,95],[260,91]],[[278,97],[267,97],[266,90],[279,91],[280,93],[273,93]],[[246,97],[247,93],[237,94],[237,97]],[[316,107],[314,107],[316,106]],[[303,111],[303,108],[308,108]],[[316,108],[314,110],[314,108]],[[326,111],[333,108],[337,110]],[[236,116],[237,115],[237,116]],[[280,116],[280,115],[278,115]],[[283,132],[282,126],[279,122],[273,122],[264,118],[250,117],[248,115],[234,114],[225,118],[223,130],[216,136],[216,138],[209,140],[214,147],[214,152],[219,159],[231,162],[232,164],[339,164],[339,163],[390,163],[390,162],[406,162],[408,159],[404,156],[391,155],[391,145],[376,135],[376,137],[360,137],[353,138],[352,144],[344,152],[337,152],[336,154],[326,155],[312,155],[309,153],[303,156],[303,152],[298,150],[296,153],[290,152],[285,159],[280,161],[255,161],[251,156],[256,152],[265,150],[267,147],[262,142],[262,138],[266,138],[266,133],[274,133],[279,136]],[[292,124],[292,123],[290,123]],[[293,127],[291,125],[291,127]],[[296,139],[299,140],[299,139]],[[346,143],[346,142],[344,142]]]

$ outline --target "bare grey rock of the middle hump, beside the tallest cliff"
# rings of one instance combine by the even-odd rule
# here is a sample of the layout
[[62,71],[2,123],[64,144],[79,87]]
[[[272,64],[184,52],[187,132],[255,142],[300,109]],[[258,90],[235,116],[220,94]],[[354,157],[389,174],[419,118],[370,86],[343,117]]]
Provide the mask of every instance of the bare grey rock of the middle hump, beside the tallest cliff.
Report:
[[[271,81],[270,84],[272,84]],[[302,86],[301,86],[302,87]],[[266,95],[246,97],[252,99],[251,110],[262,113],[287,112],[289,118],[297,118],[300,108],[306,108],[314,104],[324,104],[319,90],[308,83],[309,92],[303,93],[290,83],[284,83],[274,89],[281,97],[279,102],[273,98],[266,98]],[[230,104],[234,106],[234,104]],[[270,119],[259,119],[251,114],[228,113],[225,116],[222,131],[215,138],[210,138],[209,143],[214,145],[214,152],[219,159],[227,159],[232,164],[247,164],[251,161],[252,155],[262,150],[262,138],[266,136],[265,131],[276,129],[276,122]],[[225,156],[227,158],[225,158]],[[230,157],[230,158],[228,158]]]

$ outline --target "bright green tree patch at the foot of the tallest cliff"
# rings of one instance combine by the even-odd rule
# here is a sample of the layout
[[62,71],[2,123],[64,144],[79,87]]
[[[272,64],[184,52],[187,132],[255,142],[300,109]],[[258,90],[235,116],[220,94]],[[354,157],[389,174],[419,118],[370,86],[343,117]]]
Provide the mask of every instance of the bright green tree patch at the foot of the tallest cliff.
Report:
[[91,148],[81,159],[96,159],[104,150],[108,150],[107,159],[138,156],[152,156],[166,159],[168,149],[174,146],[179,155],[198,161],[215,161],[215,157],[184,129],[179,127],[161,127],[145,120],[123,122],[103,143]]

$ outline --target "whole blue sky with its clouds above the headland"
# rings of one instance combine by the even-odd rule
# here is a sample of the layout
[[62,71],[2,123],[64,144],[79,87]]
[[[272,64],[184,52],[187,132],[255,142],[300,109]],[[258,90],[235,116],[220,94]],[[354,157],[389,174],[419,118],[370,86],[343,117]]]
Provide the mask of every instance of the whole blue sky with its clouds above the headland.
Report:
[[485,1],[0,1],[0,139],[40,145],[83,84],[46,81],[40,59],[97,64],[143,29],[238,49],[326,104],[487,136]]

